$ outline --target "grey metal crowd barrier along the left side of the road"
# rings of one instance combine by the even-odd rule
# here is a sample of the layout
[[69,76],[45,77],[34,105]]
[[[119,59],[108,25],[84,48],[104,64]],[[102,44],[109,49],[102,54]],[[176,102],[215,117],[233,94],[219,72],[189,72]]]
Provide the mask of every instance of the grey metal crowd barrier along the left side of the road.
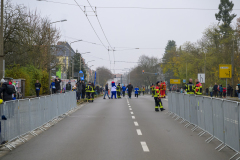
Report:
[[[77,106],[76,92],[53,94],[44,97],[7,101],[0,104],[0,142],[11,142],[34,130],[45,130],[42,126],[57,119]],[[8,143],[11,147],[15,146]],[[7,145],[5,145],[7,146]],[[8,147],[10,150],[11,148]]]

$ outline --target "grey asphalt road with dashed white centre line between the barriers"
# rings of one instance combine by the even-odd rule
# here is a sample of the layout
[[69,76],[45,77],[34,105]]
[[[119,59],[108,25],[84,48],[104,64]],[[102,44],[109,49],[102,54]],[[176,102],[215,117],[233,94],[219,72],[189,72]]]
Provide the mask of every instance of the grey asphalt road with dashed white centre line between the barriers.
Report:
[[149,95],[98,98],[1,159],[227,160],[234,154],[216,151],[217,140],[207,144],[208,135],[198,137],[165,113],[154,111]]

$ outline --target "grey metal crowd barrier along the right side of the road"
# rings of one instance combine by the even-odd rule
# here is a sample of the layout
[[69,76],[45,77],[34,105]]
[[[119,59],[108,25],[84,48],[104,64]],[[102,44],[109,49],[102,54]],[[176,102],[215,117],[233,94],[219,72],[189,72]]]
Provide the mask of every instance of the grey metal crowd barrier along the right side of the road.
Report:
[[[221,151],[229,147],[240,153],[240,110],[239,102],[219,98],[188,95],[182,93],[168,93],[169,115],[175,120],[182,119],[187,122],[185,127],[193,125],[192,131],[201,129],[199,136],[208,133],[206,139],[210,143],[213,139],[221,142],[215,149]],[[239,160],[237,158],[236,160]]]

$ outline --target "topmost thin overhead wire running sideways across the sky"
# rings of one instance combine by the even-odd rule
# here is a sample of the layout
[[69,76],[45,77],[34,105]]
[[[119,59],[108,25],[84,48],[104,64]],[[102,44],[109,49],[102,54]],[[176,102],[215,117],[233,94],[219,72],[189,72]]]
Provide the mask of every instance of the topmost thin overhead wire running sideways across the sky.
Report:
[[[48,0],[38,0],[38,1],[44,1],[44,2],[51,2],[51,3],[57,3],[57,4],[64,4],[64,5],[72,5],[72,6],[84,6],[84,5],[76,5],[71,3],[64,3],[64,2],[56,2],[56,1],[48,1]],[[85,6],[85,7],[91,7],[91,6]],[[153,8],[153,7],[97,7],[102,9],[145,9],[145,10],[202,10],[202,11],[216,11],[219,9],[213,9],[213,8]],[[240,10],[239,8],[233,9],[233,10]]]

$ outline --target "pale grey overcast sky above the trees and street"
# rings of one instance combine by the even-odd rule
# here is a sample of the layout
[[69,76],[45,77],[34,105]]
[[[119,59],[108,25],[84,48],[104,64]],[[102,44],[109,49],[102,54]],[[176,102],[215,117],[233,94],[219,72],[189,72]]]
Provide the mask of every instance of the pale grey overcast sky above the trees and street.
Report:
[[[76,4],[74,0],[51,1]],[[234,9],[240,9],[240,0],[232,1]],[[86,16],[77,6],[37,0],[12,0],[12,2],[24,4],[32,10],[37,9],[42,16],[49,16],[52,21],[67,19],[67,22],[55,24],[61,30],[60,40],[62,41],[70,43],[75,40],[84,40],[101,44]],[[89,6],[87,0],[77,0],[77,2],[79,5]],[[220,0],[89,0],[89,2],[94,7],[218,9]],[[87,11],[92,10],[87,7]],[[118,47],[140,48],[114,52],[115,61],[128,62],[137,62],[139,56],[143,54],[162,58],[168,40],[175,40],[178,46],[186,41],[196,42],[202,37],[207,27],[217,23],[215,19],[217,12],[217,10],[97,8],[99,21],[112,47],[116,47],[116,50],[127,49]],[[233,13],[240,17],[240,10],[235,10]],[[94,15],[93,12],[88,12],[88,14]],[[109,46],[97,18],[89,16],[89,19],[103,44]],[[73,43],[72,47],[82,53],[91,52],[84,54],[83,57],[86,61],[95,60],[89,63],[94,65],[93,69],[99,66],[110,69],[108,52],[103,46],[77,42]],[[109,52],[109,54],[112,61],[111,69],[113,69],[113,53]],[[123,71],[117,69],[131,68],[135,65],[136,63],[116,62],[115,72],[121,73]]]

